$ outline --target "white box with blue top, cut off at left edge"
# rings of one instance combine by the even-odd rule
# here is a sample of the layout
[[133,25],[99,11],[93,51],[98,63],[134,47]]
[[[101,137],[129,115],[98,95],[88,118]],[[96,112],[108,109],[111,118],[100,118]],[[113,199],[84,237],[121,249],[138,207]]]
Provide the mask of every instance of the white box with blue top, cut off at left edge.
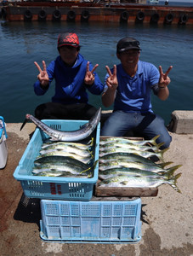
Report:
[[3,169],[6,166],[8,160],[7,137],[4,119],[0,116],[0,169]]

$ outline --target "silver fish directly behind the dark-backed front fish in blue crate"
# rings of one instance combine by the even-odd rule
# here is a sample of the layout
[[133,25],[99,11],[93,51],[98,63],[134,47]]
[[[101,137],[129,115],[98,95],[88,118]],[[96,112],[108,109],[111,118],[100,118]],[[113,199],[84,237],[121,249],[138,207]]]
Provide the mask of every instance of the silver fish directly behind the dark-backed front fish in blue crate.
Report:
[[37,155],[37,159],[45,158],[45,157],[49,157],[49,156],[54,156],[54,155],[55,156],[56,155],[68,156],[68,157],[71,157],[73,159],[77,159],[79,161],[82,161],[82,163],[84,163],[84,164],[89,164],[94,159],[93,156],[82,157],[81,155],[78,155],[78,154],[68,153],[68,152],[64,152],[64,151],[60,151],[60,150],[53,150],[53,151],[49,151],[48,153],[45,153],[45,154],[39,154],[39,155]]

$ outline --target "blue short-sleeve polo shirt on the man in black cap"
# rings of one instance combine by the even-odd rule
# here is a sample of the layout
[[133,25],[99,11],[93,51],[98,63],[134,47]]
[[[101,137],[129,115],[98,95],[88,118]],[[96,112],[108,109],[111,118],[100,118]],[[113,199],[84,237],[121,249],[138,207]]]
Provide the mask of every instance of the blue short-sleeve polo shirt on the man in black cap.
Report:
[[[113,69],[111,69],[113,72]],[[109,74],[106,75],[105,80]],[[132,78],[124,72],[122,64],[116,65],[118,87],[114,110],[122,110],[128,113],[153,112],[151,105],[151,90],[158,83],[160,73],[151,63],[138,62],[138,70]],[[105,88],[106,88],[105,84]]]

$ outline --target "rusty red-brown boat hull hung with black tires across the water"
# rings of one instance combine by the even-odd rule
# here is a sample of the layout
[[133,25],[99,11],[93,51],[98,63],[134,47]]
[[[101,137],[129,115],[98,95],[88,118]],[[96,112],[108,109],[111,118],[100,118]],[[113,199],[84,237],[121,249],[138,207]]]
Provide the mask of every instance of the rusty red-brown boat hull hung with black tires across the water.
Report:
[[193,7],[146,3],[146,0],[23,1],[3,6],[9,21],[105,21],[153,24],[193,24]]

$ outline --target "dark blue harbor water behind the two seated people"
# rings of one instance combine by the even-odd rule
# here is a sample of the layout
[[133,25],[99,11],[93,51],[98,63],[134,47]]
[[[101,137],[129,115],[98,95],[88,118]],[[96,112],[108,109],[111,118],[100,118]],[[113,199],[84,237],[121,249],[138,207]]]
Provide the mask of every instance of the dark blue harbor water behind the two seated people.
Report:
[[[152,94],[155,113],[165,119],[166,125],[174,110],[192,110],[193,94],[193,26],[117,24],[105,22],[6,22],[0,26],[0,115],[5,122],[23,122],[26,113],[42,102],[50,102],[54,95],[54,82],[47,94],[36,96],[33,84],[37,79],[34,61],[47,65],[58,55],[57,38],[60,32],[77,32],[81,54],[94,65],[97,73],[105,79],[105,65],[119,63],[116,43],[129,36],[139,39],[142,49],[140,60],[149,61],[163,71],[172,65],[169,73],[170,96],[162,102]],[[97,108],[102,106],[100,96],[89,96],[89,102]],[[112,109],[104,108],[102,109]]]

